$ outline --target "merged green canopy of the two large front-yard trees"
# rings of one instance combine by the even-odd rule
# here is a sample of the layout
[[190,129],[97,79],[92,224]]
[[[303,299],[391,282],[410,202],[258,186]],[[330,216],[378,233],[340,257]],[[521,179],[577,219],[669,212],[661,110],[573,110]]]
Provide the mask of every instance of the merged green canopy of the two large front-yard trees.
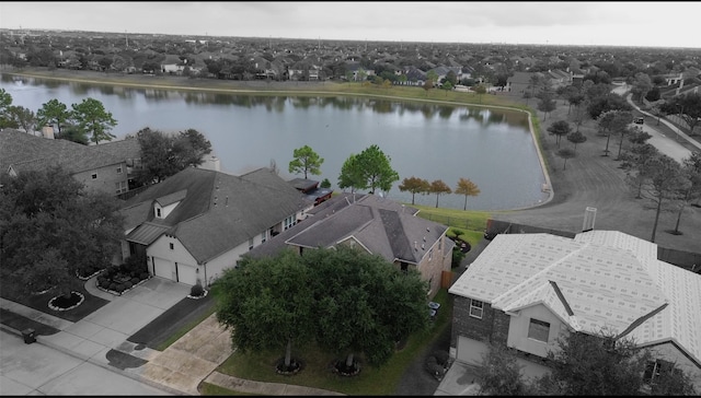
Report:
[[243,351],[313,341],[354,361],[387,362],[395,342],[427,326],[426,284],[378,255],[338,245],[244,256],[217,281],[217,319]]

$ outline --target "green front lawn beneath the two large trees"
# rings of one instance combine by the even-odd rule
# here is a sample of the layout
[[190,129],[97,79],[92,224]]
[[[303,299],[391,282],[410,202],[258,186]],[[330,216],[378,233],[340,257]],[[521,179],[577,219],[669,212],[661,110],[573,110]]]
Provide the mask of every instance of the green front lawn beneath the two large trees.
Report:
[[[303,363],[301,372],[294,376],[275,373],[275,364],[284,355],[284,348],[276,352],[235,351],[217,371],[231,376],[271,383],[286,383],[326,389],[347,395],[394,395],[404,372],[425,350],[429,349],[452,320],[452,300],[446,289],[434,297],[441,304],[432,327],[409,338],[405,347],[397,351],[380,367],[364,365],[360,373],[353,377],[340,376],[332,372],[334,361],[343,359],[324,352],[314,344],[294,348],[294,356]],[[363,361],[363,355],[358,355]]]

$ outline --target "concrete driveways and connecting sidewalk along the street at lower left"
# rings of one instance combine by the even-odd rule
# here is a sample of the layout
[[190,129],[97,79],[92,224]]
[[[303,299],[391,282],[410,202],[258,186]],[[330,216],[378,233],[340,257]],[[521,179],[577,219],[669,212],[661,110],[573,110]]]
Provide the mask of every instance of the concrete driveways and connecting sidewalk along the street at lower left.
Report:
[[[97,364],[120,375],[138,379],[172,395],[200,395],[204,381],[223,388],[262,395],[343,395],[324,389],[241,379],[216,372],[232,353],[230,332],[210,315],[163,351],[128,341],[160,314],[188,293],[179,283],[151,278],[122,296],[103,292],[94,278],[85,290],[110,303],[85,318],[72,323],[0,297],[0,308],[19,314],[58,333],[36,336],[36,343],[54,348],[71,356]],[[157,309],[158,308],[158,309]],[[0,328],[22,336],[0,323]],[[26,363],[25,366],[32,366]],[[41,377],[41,375],[37,375]]]

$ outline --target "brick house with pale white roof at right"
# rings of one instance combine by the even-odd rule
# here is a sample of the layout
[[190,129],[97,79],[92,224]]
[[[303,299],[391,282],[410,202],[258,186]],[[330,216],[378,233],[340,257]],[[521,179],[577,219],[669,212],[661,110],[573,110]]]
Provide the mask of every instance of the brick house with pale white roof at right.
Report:
[[458,361],[479,364],[485,342],[503,343],[542,374],[559,336],[606,328],[651,349],[645,376],[676,363],[701,387],[701,276],[658,260],[654,243],[618,231],[499,234],[449,293]]

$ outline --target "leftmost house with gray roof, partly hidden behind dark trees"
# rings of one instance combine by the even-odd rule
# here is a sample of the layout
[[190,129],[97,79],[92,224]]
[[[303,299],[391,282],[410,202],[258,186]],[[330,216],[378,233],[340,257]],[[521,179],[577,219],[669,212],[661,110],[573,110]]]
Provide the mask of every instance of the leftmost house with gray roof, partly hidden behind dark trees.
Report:
[[103,151],[100,145],[83,145],[56,140],[49,127],[43,136],[15,129],[0,131],[0,171],[16,176],[22,171],[61,166],[85,188],[110,195],[129,190],[124,159]]

